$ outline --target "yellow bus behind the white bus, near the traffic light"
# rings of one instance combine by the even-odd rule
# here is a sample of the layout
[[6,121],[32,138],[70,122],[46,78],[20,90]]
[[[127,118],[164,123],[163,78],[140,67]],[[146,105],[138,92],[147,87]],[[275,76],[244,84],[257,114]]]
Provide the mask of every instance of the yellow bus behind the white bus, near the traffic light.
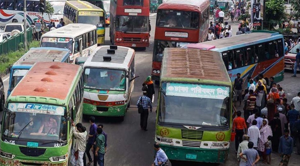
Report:
[[105,16],[104,11],[86,1],[66,1],[63,11],[65,24],[84,23],[97,27],[97,44],[104,44]]

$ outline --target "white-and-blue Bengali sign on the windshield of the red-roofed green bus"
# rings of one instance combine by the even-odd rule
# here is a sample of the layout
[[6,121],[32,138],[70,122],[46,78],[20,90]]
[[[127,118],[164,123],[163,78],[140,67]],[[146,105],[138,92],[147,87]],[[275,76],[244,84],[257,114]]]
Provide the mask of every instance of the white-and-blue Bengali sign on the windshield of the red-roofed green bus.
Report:
[[8,103],[8,109],[14,112],[28,112],[50,115],[64,115],[64,107],[48,104]]

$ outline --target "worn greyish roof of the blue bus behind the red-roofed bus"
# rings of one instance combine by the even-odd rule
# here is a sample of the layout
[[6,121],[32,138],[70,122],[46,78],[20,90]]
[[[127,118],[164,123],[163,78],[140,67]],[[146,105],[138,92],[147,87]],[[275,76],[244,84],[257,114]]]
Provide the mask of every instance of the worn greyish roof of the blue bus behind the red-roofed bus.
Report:
[[35,62],[61,62],[68,58],[70,51],[64,48],[30,48],[14,65],[33,65]]

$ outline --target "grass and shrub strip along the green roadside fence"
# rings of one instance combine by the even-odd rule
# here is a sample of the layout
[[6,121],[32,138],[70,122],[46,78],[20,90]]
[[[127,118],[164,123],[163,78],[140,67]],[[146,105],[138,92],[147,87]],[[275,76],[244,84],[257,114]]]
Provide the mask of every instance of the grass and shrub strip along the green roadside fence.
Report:
[[[21,43],[20,43],[21,44]],[[20,45],[19,45],[20,46]],[[29,48],[39,47],[39,41],[32,41],[29,43]],[[23,48],[23,45],[22,45]],[[2,54],[0,56],[0,72],[5,72],[13,63],[15,63],[22,55],[24,55],[26,50],[18,50],[16,52],[10,52],[8,54]]]

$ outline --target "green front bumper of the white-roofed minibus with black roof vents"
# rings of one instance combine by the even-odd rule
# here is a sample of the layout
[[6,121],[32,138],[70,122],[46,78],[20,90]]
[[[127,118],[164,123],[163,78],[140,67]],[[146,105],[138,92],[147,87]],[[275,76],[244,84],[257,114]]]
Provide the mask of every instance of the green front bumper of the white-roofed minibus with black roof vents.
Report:
[[122,106],[95,106],[92,104],[83,103],[83,114],[94,116],[125,116],[127,103]]

